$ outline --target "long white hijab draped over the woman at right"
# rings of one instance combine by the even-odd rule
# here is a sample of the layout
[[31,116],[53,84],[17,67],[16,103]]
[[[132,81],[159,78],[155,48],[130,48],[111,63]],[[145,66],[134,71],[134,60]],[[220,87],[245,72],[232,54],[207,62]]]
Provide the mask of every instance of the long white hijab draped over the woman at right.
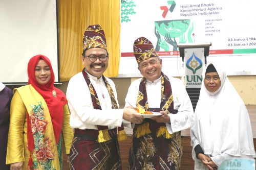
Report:
[[250,119],[242,99],[225,71],[215,64],[221,87],[213,93],[206,90],[204,77],[208,65],[203,71],[195,122],[190,131],[193,159],[196,159],[194,149],[197,144],[200,144],[204,154],[212,156],[222,153],[233,156],[255,155]]

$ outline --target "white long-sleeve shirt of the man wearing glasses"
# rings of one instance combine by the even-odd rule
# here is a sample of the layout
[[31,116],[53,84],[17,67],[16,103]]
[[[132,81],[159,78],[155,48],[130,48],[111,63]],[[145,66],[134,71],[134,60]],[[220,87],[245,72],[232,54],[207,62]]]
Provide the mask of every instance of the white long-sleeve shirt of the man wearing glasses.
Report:
[[[91,93],[82,72],[73,76],[68,84],[67,99],[70,108],[70,126],[78,129],[98,129],[97,125],[109,126],[110,129],[121,126],[122,109],[112,109],[111,98],[108,89],[102,79],[90,74],[90,81],[98,95],[102,110],[94,109]],[[111,85],[117,101],[115,84],[106,78]],[[118,105],[118,101],[117,101]]]

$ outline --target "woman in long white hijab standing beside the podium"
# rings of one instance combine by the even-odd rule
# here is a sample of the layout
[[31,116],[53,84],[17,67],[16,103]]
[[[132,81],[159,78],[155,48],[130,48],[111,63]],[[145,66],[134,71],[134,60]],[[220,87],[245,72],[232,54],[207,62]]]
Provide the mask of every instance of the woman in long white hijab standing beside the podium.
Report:
[[195,169],[217,169],[225,159],[255,156],[247,109],[217,65],[203,71],[190,136]]

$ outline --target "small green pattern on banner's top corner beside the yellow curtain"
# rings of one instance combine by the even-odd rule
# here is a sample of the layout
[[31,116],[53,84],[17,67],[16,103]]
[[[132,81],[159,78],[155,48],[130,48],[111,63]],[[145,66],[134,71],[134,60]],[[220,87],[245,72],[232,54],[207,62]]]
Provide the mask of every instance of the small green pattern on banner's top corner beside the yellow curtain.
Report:
[[130,22],[130,15],[136,14],[134,11],[134,7],[136,5],[134,4],[133,0],[121,0],[121,22]]

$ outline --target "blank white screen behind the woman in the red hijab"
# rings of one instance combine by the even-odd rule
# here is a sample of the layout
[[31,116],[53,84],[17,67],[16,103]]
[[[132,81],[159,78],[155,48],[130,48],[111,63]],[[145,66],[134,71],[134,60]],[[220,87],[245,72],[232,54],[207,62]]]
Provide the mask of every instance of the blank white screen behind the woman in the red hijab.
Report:
[[0,23],[0,81],[28,82],[28,61],[42,54],[50,58],[57,82],[56,1],[1,0]]

